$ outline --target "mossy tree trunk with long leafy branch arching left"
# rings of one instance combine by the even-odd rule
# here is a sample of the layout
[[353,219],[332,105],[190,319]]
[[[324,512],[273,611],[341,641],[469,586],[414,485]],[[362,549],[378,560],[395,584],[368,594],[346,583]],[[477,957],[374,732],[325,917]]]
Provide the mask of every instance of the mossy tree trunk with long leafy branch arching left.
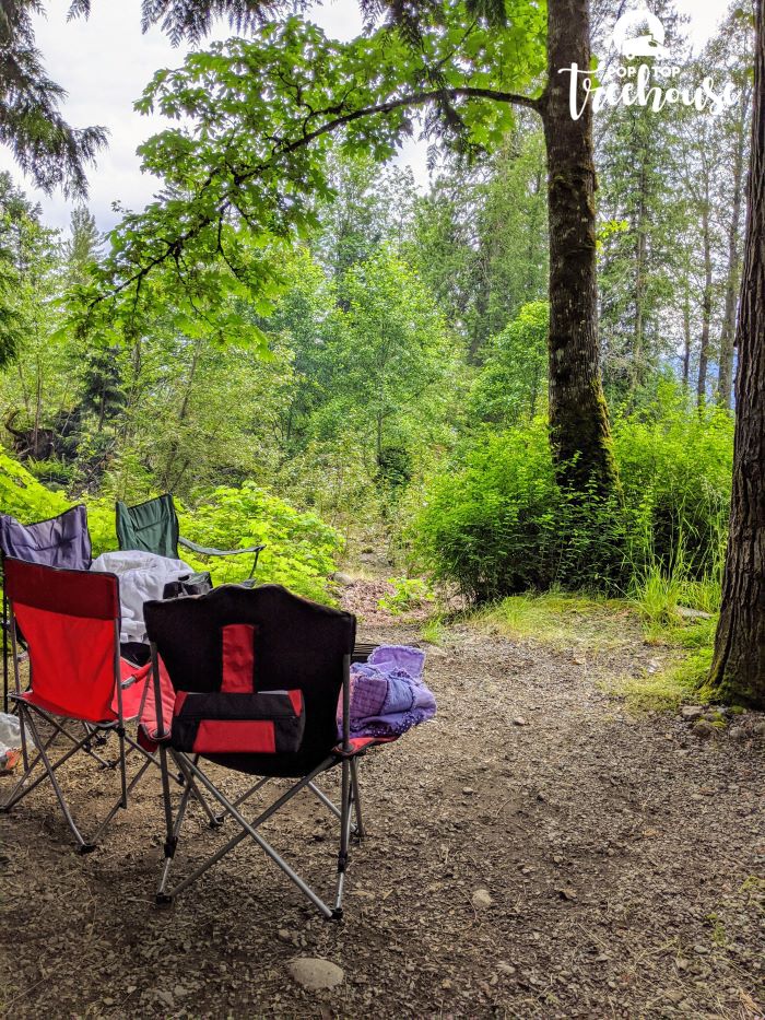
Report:
[[[550,431],[563,485],[607,495],[617,485],[598,356],[592,107],[578,120],[570,74],[590,67],[588,0],[549,0],[548,86],[540,102],[550,215]],[[578,101],[584,91],[579,84]]]

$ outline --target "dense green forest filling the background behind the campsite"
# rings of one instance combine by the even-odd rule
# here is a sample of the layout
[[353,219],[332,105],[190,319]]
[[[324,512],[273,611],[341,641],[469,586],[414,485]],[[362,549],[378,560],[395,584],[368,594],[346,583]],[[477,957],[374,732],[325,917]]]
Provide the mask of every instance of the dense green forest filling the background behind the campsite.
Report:
[[[114,547],[115,497],[170,491],[190,537],[266,541],[262,578],[316,598],[334,597],[330,576],[343,561],[382,547],[391,573],[463,600],[551,588],[639,600],[661,590],[716,612],[733,464],[752,16],[733,2],[692,55],[671,0],[652,8],[675,62],[690,78],[713,68],[735,83],[737,102],[714,115],[693,105],[595,115],[593,261],[577,267],[567,291],[565,199],[548,180],[565,153],[552,104],[526,98],[545,61],[531,15],[522,59],[503,82],[519,93],[515,105],[457,109],[446,97],[451,72],[434,84],[426,192],[390,163],[398,136],[416,130],[402,104],[395,124],[390,104],[372,127],[349,116],[342,136],[316,131],[320,162],[295,146],[281,177],[248,176],[242,152],[256,159],[260,144],[247,140],[252,124],[258,139],[276,137],[289,102],[299,107],[302,89],[320,91],[299,62],[306,52],[336,60],[325,91],[374,60],[372,36],[349,56],[296,17],[257,43],[213,44],[157,72],[142,108],[197,130],[143,145],[165,191],[126,213],[110,237],[84,201],[69,231],[49,228],[21,179],[2,175],[2,508],[36,519],[84,499],[101,551]],[[610,4],[593,5],[595,51],[609,48],[612,15]],[[503,34],[490,14],[485,25],[475,16],[478,65]],[[405,38],[414,26],[402,17]],[[416,26],[417,45],[435,60],[433,39],[458,30],[426,31],[426,21]],[[573,45],[563,30],[550,40],[548,57]],[[405,51],[396,49],[399,71]],[[276,78],[285,52],[295,81],[257,98],[239,68],[251,61]],[[375,102],[369,85],[358,103]],[[233,127],[216,132],[221,110]],[[210,190],[221,164],[236,200]],[[232,202],[234,219],[220,212]],[[563,328],[560,295],[589,300],[596,269],[598,332],[575,341],[592,345],[597,364],[577,397],[549,343]],[[588,315],[581,304],[569,319]],[[593,423],[579,447],[572,436],[590,425],[577,415]],[[591,462],[590,439],[600,450]]]

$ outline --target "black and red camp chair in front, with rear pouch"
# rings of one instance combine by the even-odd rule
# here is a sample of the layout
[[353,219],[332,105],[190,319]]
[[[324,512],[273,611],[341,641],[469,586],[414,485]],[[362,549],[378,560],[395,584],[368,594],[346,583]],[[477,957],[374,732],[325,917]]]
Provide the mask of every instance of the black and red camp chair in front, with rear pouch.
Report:
[[[363,835],[357,757],[372,745],[385,742],[373,738],[352,740],[349,734],[355,618],[308,602],[279,585],[251,589],[223,585],[196,598],[146,602],[144,611],[154,685],[148,736],[160,747],[166,824],[157,903],[170,903],[250,836],[325,917],[340,918],[350,837],[352,832],[360,839]],[[344,707],[341,742],[337,723],[340,696]],[[232,799],[202,771],[200,755],[227,770],[260,778]],[[185,789],[174,813],[168,758],[187,778],[196,778],[215,798],[222,817],[233,819],[239,830],[174,888],[168,884],[169,875],[189,795]],[[339,807],[315,782],[336,766],[341,770]],[[244,802],[275,777],[294,782],[248,821],[243,813]],[[303,789],[314,794],[340,823],[332,906],[260,832],[261,825]]]

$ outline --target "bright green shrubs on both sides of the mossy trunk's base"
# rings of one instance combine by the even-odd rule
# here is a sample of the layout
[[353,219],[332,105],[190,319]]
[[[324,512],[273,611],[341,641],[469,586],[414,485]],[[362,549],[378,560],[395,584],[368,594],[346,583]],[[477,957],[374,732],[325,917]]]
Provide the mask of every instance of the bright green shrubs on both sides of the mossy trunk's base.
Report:
[[615,423],[623,500],[608,501],[561,492],[545,422],[489,433],[431,479],[415,550],[478,601],[554,585],[625,594],[657,566],[681,565],[685,589],[706,588],[719,576],[732,432],[727,413],[699,413],[666,387]]

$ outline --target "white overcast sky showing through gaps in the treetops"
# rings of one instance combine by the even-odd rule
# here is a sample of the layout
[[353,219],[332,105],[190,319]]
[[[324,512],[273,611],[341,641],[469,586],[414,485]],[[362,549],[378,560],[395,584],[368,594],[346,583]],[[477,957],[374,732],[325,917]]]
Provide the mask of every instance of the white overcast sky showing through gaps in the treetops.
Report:
[[[676,0],[691,17],[691,35],[696,47],[714,32],[725,11],[722,0]],[[614,0],[614,7],[616,0]],[[141,35],[141,0],[94,0],[89,21],[67,23],[67,0],[50,0],[46,19],[38,19],[37,44],[45,56],[48,73],[63,85],[69,96],[64,113],[75,127],[103,125],[109,130],[109,146],[90,171],[90,208],[102,230],[111,227],[118,216],[111,203],[141,209],[156,190],[155,178],[142,174],[136,148],[162,127],[157,117],[141,117],[132,109],[153,72],[176,67],[184,49],[174,49],[157,30]],[[351,38],[361,27],[356,0],[325,0],[311,15],[325,31],[338,38]],[[225,38],[226,26],[216,37]],[[399,162],[411,164],[421,186],[427,184],[424,146],[411,142]],[[9,153],[0,148],[0,169],[9,169],[27,194],[43,206],[50,226],[66,227],[71,203],[62,196],[51,198],[25,183]]]

